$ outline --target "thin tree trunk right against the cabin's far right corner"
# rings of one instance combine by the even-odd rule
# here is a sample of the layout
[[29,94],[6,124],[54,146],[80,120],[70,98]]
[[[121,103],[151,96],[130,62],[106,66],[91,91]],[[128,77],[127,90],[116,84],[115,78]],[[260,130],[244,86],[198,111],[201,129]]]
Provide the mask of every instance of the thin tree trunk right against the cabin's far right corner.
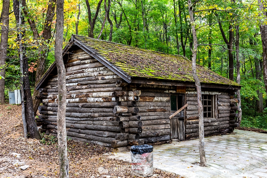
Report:
[[[239,61],[239,25],[236,25],[236,83],[240,84],[240,61]],[[237,91],[237,98],[239,99],[239,103],[237,103],[238,107],[238,118],[237,123],[240,127],[241,119],[242,119],[242,109],[241,109],[241,96],[240,90]]]

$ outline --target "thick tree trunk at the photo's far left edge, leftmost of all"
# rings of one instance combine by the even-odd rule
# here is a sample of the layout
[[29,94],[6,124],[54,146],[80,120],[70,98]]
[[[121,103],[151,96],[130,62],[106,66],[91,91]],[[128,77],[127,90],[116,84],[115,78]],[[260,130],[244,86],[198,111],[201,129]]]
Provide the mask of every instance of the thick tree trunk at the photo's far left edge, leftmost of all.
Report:
[[6,53],[9,30],[9,4],[10,0],[3,0],[3,9],[1,13],[1,41],[0,41],[0,104],[5,104],[5,73]]

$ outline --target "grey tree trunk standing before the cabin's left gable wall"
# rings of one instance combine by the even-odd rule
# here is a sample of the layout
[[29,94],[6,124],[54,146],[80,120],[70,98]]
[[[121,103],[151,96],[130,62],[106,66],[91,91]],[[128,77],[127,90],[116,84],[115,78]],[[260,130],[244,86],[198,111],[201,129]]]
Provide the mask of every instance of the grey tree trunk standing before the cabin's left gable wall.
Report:
[[67,155],[67,132],[66,132],[66,82],[65,66],[62,57],[62,43],[64,30],[64,0],[57,0],[56,10],[56,36],[55,36],[55,62],[58,69],[58,157],[60,178],[69,177],[69,160]]

